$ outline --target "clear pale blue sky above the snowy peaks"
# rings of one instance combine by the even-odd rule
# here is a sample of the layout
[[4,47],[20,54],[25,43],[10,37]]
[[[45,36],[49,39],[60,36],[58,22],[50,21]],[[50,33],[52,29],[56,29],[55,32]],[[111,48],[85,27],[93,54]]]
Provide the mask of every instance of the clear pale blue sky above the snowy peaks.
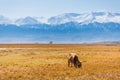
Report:
[[120,12],[120,0],[0,0],[0,15],[10,18],[91,11]]

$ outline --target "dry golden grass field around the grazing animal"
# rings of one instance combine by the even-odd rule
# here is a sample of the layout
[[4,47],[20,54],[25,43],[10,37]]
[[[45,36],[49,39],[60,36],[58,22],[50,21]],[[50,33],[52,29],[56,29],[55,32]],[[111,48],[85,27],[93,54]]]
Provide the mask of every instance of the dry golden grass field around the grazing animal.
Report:
[[[71,52],[82,68],[68,67]],[[120,80],[120,45],[1,44],[0,80]]]

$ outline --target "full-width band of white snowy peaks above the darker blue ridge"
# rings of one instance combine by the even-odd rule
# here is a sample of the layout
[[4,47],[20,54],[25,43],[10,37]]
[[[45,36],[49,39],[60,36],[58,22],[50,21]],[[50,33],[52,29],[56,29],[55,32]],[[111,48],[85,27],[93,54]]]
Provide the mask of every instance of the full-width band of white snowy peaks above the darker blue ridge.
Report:
[[59,25],[69,22],[75,22],[80,24],[89,23],[120,23],[120,13],[112,12],[88,12],[88,13],[64,13],[58,16],[52,16],[50,18],[45,17],[25,17],[17,20],[10,20],[4,16],[0,16],[0,24],[15,24],[15,25],[34,25],[34,24],[49,24]]

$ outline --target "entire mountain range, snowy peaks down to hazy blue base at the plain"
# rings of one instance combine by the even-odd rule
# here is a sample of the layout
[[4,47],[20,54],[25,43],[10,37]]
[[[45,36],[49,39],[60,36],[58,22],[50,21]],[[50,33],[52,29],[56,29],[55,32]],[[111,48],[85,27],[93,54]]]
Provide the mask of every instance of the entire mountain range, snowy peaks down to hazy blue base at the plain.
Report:
[[120,41],[120,13],[65,13],[11,20],[0,16],[0,42],[89,43]]

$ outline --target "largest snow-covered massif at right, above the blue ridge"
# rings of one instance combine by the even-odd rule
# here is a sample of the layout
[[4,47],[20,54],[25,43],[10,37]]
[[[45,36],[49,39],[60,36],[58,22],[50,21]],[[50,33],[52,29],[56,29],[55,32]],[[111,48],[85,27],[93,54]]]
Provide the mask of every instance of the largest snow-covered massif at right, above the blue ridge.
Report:
[[78,22],[88,24],[93,22],[107,23],[115,22],[120,23],[120,13],[110,12],[90,12],[90,13],[66,13],[58,16],[51,17],[48,20],[51,24],[64,24],[67,22]]

